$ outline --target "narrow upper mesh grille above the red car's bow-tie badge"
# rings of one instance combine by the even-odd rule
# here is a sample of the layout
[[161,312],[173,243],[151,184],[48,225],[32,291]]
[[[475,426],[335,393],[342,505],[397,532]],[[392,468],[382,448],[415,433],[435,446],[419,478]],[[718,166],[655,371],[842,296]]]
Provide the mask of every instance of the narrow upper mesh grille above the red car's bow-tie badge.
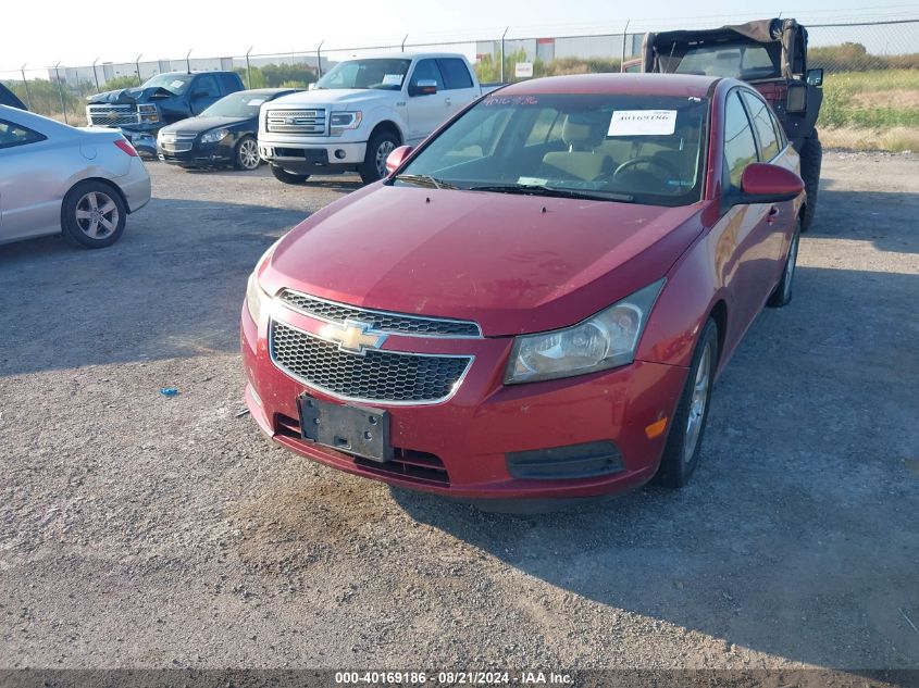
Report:
[[403,313],[387,313],[360,309],[344,303],[300,293],[291,289],[281,292],[281,301],[295,311],[312,317],[344,324],[347,320],[360,321],[373,326],[373,329],[400,335],[421,335],[425,337],[481,337],[479,325],[469,321],[451,321],[439,317],[423,317]]

